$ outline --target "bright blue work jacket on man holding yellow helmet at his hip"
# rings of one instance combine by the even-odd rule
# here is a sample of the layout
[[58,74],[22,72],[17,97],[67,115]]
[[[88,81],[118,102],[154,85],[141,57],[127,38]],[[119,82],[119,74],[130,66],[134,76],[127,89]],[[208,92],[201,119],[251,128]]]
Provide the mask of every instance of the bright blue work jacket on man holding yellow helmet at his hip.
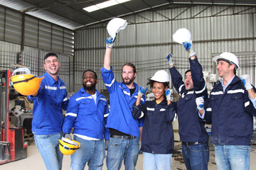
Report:
[[63,132],[92,137],[95,139],[110,139],[110,132],[105,129],[109,108],[107,99],[96,90],[96,103],[90,94],[82,87],[71,96],[63,123]]

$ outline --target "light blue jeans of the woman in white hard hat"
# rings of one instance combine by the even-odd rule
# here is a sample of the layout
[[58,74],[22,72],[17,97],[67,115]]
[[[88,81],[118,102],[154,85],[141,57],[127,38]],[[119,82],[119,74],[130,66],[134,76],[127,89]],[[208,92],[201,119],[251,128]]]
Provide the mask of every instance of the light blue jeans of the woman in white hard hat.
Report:
[[171,170],[172,154],[151,154],[143,152],[143,170]]

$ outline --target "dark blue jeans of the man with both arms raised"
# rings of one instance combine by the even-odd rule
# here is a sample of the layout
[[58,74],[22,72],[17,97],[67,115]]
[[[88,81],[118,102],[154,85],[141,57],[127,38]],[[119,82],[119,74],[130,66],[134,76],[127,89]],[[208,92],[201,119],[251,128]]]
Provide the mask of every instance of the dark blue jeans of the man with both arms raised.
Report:
[[206,170],[209,162],[208,143],[182,145],[182,156],[188,170]]

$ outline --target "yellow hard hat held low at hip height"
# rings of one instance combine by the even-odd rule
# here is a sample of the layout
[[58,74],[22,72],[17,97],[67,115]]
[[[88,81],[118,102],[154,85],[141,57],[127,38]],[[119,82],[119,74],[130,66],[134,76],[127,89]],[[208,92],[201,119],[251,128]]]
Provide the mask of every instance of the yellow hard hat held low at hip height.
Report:
[[80,147],[80,142],[77,142],[75,140],[69,140],[68,138],[62,137],[61,140],[59,140],[59,148],[60,152],[62,152],[65,155],[70,155],[75,153],[77,149]]

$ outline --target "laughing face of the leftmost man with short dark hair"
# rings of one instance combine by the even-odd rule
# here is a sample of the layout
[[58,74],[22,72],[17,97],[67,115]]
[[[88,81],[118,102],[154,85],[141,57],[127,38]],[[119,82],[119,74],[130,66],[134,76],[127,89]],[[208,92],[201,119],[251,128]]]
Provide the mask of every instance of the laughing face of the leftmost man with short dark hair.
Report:
[[58,61],[58,58],[53,55],[46,58],[44,68],[51,76],[58,76],[60,70],[60,62]]

